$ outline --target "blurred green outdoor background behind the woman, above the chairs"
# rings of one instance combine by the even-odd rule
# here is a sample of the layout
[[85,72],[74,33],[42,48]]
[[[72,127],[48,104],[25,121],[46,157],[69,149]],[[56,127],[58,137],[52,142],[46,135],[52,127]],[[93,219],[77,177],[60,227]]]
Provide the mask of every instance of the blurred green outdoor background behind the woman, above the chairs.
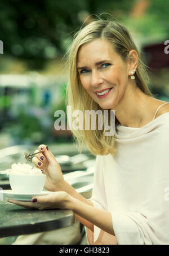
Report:
[[54,129],[54,112],[65,110],[65,51],[92,14],[108,12],[127,26],[150,67],[149,88],[169,101],[169,1],[11,0],[0,10],[0,149],[72,143],[70,131]]

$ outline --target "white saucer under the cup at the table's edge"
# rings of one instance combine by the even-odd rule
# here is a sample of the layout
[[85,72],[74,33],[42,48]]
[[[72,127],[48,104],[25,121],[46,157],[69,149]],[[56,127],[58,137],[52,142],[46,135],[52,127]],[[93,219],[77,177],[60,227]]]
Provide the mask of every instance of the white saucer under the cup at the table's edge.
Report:
[[41,193],[16,193],[10,190],[0,190],[0,194],[3,193],[5,197],[10,199],[20,200],[20,201],[32,201],[32,197],[34,196],[45,196],[46,194],[50,194],[50,191],[42,191]]

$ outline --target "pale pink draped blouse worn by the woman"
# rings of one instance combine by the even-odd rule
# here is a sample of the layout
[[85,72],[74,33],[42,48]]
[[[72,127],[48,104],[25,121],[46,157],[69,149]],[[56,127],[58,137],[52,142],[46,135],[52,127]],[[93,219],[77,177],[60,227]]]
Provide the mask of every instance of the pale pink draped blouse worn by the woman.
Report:
[[155,115],[141,128],[118,124],[117,153],[97,155],[89,200],[111,212],[115,236],[94,225],[88,244],[169,244],[169,112]]

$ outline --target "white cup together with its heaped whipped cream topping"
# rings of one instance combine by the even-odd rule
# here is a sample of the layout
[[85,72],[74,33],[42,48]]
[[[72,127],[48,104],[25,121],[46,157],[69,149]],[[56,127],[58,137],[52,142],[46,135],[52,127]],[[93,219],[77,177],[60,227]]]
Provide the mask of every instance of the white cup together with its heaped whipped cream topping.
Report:
[[12,164],[9,171],[10,186],[14,193],[41,193],[46,175],[29,164]]

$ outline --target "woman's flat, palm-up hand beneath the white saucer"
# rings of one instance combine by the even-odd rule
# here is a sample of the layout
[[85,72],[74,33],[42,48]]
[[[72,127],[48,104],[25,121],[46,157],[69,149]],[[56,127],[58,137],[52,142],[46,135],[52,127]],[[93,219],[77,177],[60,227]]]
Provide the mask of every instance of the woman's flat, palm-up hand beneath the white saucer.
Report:
[[19,205],[25,208],[31,209],[70,209],[70,201],[71,196],[64,192],[51,192],[46,196],[34,196],[32,198],[32,202],[30,201],[17,201],[14,199],[8,199],[8,202],[15,203],[15,205]]

